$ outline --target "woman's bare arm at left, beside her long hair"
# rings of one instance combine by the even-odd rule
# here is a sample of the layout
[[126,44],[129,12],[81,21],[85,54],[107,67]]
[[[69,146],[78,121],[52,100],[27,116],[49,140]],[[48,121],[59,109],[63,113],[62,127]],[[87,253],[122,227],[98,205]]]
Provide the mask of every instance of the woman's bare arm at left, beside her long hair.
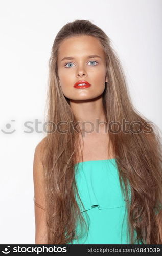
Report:
[[35,244],[48,244],[47,224],[45,221],[45,194],[43,182],[43,165],[40,149],[42,141],[36,146],[33,163],[33,181],[35,198]]

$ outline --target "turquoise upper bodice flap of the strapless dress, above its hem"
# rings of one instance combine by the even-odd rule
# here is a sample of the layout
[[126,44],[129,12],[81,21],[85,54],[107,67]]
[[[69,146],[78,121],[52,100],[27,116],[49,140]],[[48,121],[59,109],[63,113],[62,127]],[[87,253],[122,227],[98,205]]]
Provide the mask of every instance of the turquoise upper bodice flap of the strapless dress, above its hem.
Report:
[[[93,208],[109,209],[124,207],[126,202],[120,189],[119,175],[115,158],[77,163],[76,183],[85,210]],[[75,168],[77,166],[75,165]],[[79,199],[81,212],[84,211]]]

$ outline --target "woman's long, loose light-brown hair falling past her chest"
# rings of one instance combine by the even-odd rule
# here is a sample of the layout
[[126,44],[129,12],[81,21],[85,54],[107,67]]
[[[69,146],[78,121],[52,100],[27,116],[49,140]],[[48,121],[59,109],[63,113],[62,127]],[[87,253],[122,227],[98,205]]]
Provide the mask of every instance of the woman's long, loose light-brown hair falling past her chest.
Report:
[[[129,133],[109,132],[118,166],[120,186],[128,210],[130,243],[159,244],[160,233],[156,221],[156,211],[160,211],[162,195],[159,129],[132,105],[122,65],[111,47],[110,39],[89,20],[75,20],[65,24],[55,37],[49,60],[45,117],[49,130],[47,129],[44,140],[42,157],[48,244],[68,244],[82,236],[84,227],[88,230],[87,222],[76,201],[76,195],[79,198],[79,194],[74,168],[78,161],[78,148],[81,148],[79,134],[82,130],[79,126],[77,131],[73,129],[78,120],[72,112],[68,98],[60,89],[57,70],[60,44],[67,38],[80,35],[97,38],[106,56],[108,83],[105,84],[103,92],[103,106],[107,124],[111,122],[122,124],[122,120],[126,120],[130,127],[133,127],[133,130],[129,129]],[[58,131],[54,126],[61,121],[68,124],[61,124],[63,132]],[[129,198],[128,184],[131,188],[131,198]],[[76,232],[78,223],[82,227],[81,233]],[[137,234],[136,238],[134,231]]]

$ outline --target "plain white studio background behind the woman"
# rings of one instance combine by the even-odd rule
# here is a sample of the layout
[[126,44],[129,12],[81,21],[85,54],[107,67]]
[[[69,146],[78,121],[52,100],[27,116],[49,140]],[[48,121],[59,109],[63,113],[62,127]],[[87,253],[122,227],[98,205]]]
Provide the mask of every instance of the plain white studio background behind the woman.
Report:
[[[135,108],[161,130],[162,1],[0,3],[0,243],[34,244],[33,157],[44,137],[48,61],[57,32],[75,19],[88,19],[103,29],[122,62]],[[32,132],[25,122],[31,122]]]

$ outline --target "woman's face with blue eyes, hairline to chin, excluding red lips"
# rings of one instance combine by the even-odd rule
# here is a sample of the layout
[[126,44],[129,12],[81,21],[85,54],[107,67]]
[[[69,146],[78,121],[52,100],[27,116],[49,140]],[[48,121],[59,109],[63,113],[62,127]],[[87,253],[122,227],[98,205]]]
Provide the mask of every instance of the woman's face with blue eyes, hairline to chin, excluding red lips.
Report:
[[[60,86],[68,99],[87,100],[102,95],[108,81],[105,54],[98,39],[87,35],[66,39],[59,47],[57,64]],[[77,89],[74,84],[79,80],[85,80],[91,86]]]

